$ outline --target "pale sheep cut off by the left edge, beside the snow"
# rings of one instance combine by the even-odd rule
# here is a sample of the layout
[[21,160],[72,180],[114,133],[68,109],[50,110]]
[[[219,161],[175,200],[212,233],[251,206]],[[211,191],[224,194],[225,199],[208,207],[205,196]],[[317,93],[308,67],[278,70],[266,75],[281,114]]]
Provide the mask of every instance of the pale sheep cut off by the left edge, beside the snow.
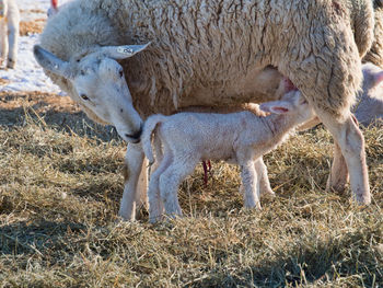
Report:
[[15,0],[0,0],[0,66],[14,68],[18,58],[20,12]]

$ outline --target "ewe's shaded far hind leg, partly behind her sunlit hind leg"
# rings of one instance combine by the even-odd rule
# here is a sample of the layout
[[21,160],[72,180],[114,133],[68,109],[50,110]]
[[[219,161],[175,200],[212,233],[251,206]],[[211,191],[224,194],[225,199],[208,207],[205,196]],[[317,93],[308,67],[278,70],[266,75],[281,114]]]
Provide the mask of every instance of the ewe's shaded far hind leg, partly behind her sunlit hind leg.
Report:
[[336,192],[344,192],[347,182],[349,181],[348,170],[347,170],[347,163],[341,154],[340,147],[335,142],[334,143],[334,160],[333,160],[333,166],[332,172],[327,180],[327,191],[336,191]]

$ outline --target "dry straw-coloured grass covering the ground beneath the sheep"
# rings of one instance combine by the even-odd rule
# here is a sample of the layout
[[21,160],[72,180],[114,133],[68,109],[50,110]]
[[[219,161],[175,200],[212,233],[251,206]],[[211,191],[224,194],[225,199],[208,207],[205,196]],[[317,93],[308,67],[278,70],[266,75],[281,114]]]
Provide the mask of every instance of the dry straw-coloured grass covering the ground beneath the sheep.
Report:
[[207,187],[201,168],[183,183],[184,219],[128,223],[125,145],[34,97],[0,102],[0,287],[382,287],[382,129],[365,130],[370,207],[324,191],[317,128],[265,158],[278,196],[262,211],[241,208],[237,169],[216,163]]

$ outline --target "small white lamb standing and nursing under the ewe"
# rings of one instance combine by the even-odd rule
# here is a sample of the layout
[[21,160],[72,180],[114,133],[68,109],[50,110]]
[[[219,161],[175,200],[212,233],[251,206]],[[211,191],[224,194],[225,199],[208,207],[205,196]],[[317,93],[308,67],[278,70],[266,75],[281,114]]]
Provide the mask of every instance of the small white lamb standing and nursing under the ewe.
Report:
[[[287,93],[280,101],[262,104],[260,110],[271,115],[259,117],[248,111],[230,114],[186,112],[148,118],[142,133],[142,148],[153,163],[151,136],[154,134],[159,161],[148,191],[151,221],[161,219],[162,201],[167,215],[182,215],[178,185],[198,162],[208,159],[241,165],[244,206],[260,208],[259,185],[262,178],[267,177],[262,155],[281,143],[292,128],[314,116],[299,91]],[[270,188],[266,192],[274,194]]]

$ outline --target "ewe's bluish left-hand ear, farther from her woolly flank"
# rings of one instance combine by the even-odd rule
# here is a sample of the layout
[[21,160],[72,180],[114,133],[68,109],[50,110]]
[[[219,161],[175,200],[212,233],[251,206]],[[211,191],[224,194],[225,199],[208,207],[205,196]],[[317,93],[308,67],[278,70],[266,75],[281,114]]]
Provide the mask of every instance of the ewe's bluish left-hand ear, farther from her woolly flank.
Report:
[[44,69],[55,74],[70,78],[69,62],[61,60],[56,55],[42,48],[39,45],[33,47],[33,55]]

